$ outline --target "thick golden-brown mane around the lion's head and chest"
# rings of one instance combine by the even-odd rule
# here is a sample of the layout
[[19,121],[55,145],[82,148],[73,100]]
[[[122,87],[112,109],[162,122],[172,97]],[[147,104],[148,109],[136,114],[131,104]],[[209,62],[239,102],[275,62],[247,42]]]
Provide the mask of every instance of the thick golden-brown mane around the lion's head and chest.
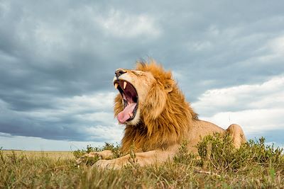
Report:
[[[167,149],[170,145],[180,143],[190,127],[192,119],[197,120],[190,104],[178,88],[170,71],[165,71],[153,60],[137,62],[136,70],[151,72],[155,82],[148,98],[141,109],[138,125],[126,125],[121,151],[126,154],[134,145],[136,151]],[[123,110],[121,96],[115,98],[114,115]]]

